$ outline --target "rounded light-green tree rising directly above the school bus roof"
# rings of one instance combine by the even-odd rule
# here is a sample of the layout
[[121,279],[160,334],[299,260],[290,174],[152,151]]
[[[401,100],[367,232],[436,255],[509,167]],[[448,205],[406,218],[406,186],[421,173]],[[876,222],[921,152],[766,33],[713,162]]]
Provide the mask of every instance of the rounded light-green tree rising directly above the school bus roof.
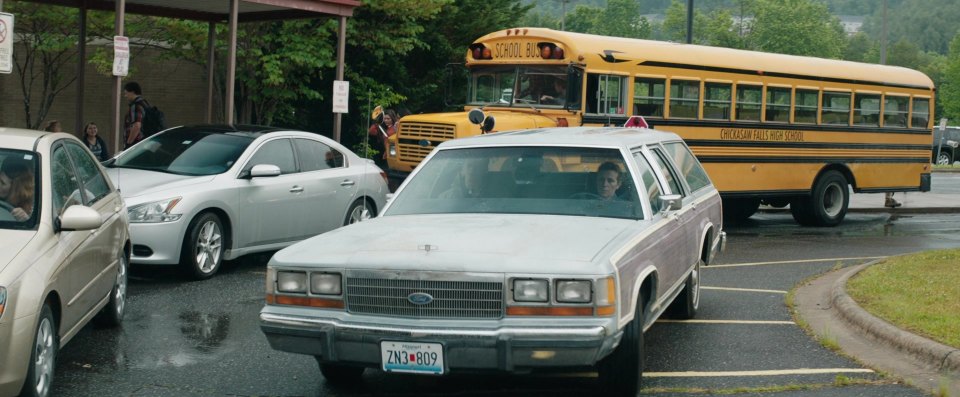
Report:
[[822,58],[843,54],[843,27],[821,2],[762,0],[750,28],[752,47],[759,51]]

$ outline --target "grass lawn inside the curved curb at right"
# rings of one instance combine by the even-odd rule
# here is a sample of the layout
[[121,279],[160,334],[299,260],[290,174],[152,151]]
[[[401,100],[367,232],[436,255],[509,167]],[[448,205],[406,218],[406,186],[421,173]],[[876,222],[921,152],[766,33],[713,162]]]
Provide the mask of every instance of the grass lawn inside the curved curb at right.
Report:
[[847,293],[891,324],[960,348],[960,249],[888,258],[851,278]]

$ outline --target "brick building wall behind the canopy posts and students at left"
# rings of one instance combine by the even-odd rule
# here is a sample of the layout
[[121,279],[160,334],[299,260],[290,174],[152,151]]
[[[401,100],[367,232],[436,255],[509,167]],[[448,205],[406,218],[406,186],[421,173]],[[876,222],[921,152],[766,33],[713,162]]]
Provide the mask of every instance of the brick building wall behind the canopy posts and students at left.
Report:
[[[136,81],[143,89],[143,96],[154,106],[163,110],[167,126],[202,123],[207,114],[207,72],[200,65],[180,61],[161,60],[149,50],[138,52],[132,49],[130,59],[131,74],[123,82]],[[17,48],[14,48],[14,52]],[[87,53],[91,54],[94,47],[90,46]],[[70,61],[65,67],[65,79],[76,73],[76,60]],[[113,76],[104,76],[97,73],[91,65],[87,65],[82,117],[83,123],[95,122],[100,129],[101,137],[107,141],[113,152],[114,140],[117,135],[113,131]],[[35,84],[39,85],[39,84]],[[39,89],[31,95],[32,117],[36,120],[39,109]],[[54,99],[54,103],[43,120],[41,128],[49,120],[60,120],[66,132],[76,132],[77,84],[72,83]],[[125,105],[126,100],[122,100]],[[122,107],[121,111],[125,108]],[[20,75],[14,69],[12,74],[0,74],[0,126],[26,127],[26,116],[23,107],[23,93],[20,88]],[[214,115],[222,112],[214,109]],[[214,120],[222,117],[214,116]],[[122,120],[122,116],[121,116]],[[80,127],[82,128],[82,126]],[[122,126],[121,126],[122,128]],[[122,131],[121,131],[122,136]]]

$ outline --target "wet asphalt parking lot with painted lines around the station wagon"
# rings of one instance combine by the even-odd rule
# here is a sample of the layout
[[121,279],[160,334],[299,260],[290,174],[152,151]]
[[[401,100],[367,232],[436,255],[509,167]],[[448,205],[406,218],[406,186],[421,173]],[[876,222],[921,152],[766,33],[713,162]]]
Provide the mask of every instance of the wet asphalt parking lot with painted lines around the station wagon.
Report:
[[[960,245],[960,215],[851,214],[838,228],[801,228],[789,214],[728,227],[728,251],[703,272],[700,315],[646,334],[645,393],[748,396],[926,396],[821,346],[786,305],[799,282],[838,266]],[[84,329],[62,351],[60,396],[593,395],[594,374],[417,377],[368,370],[331,389],[315,361],[272,350],[259,330],[266,256],[186,282],[137,269],[122,329]]]

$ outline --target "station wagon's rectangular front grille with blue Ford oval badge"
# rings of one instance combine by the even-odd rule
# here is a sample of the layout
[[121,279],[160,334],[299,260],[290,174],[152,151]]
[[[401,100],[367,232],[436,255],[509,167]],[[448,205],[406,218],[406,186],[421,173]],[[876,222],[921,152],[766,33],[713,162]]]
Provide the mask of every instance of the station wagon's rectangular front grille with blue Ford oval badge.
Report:
[[[501,282],[347,277],[346,293],[347,311],[351,313],[470,319],[503,315]],[[409,297],[417,293],[433,299],[426,304],[413,304]]]

